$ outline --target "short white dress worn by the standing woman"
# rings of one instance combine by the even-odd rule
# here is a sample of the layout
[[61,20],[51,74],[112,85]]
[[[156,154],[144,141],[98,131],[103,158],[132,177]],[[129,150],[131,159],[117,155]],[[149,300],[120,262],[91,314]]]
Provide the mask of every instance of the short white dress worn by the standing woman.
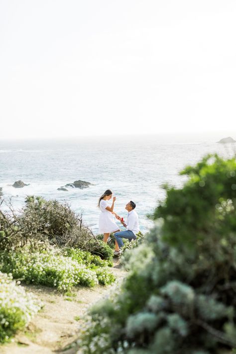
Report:
[[115,223],[114,215],[109,212],[106,208],[110,207],[106,200],[101,200],[99,209],[101,214],[99,216],[99,233],[100,234],[110,234],[114,231],[119,230],[117,224]]

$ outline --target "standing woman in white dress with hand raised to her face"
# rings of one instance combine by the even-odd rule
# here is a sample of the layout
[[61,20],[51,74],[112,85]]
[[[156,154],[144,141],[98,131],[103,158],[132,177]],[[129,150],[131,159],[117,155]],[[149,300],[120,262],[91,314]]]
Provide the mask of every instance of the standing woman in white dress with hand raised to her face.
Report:
[[[101,211],[99,217],[99,233],[104,235],[103,240],[105,243],[107,243],[108,237],[110,236],[111,233],[116,233],[120,231],[114,220],[114,215],[118,220],[120,220],[120,217],[114,212],[114,204],[116,201],[116,197],[113,197],[113,202],[111,207],[108,203],[110,199],[112,199],[112,191],[108,189],[99,198],[99,203],[98,203],[98,207]],[[115,251],[116,252],[119,251],[119,246],[117,241],[116,241]]]

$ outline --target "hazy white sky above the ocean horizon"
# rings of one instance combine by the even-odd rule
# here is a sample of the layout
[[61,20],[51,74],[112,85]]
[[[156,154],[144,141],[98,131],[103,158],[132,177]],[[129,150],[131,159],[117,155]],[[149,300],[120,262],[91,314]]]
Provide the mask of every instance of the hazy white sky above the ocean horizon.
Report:
[[0,0],[0,137],[235,121],[236,0]]

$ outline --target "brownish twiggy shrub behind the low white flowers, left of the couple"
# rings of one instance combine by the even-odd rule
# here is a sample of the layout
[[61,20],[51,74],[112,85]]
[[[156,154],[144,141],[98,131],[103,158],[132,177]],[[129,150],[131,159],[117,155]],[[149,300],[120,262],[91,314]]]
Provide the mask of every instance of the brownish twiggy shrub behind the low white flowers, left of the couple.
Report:
[[[1,202],[2,203],[2,202]],[[111,252],[83,223],[67,203],[46,201],[29,196],[25,207],[15,213],[0,210],[0,249],[11,250],[25,246],[33,250],[47,248],[48,242],[59,247],[77,247],[111,259]],[[46,243],[46,244],[44,244]]]

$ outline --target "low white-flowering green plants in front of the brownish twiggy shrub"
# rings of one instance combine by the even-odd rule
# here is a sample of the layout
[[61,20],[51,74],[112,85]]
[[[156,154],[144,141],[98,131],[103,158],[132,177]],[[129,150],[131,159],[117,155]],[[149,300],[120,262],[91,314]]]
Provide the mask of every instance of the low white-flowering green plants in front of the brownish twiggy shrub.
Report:
[[[11,273],[14,279],[26,283],[53,286],[61,291],[70,290],[73,286],[95,286],[97,284],[111,284],[115,276],[108,268],[108,261],[99,261],[97,257],[83,254],[83,251],[69,250],[63,255],[60,249],[50,248],[40,252],[29,252],[27,249],[19,251],[0,252],[0,270]],[[77,257],[76,257],[77,256]],[[84,259],[87,259],[84,261]],[[99,266],[96,266],[97,262]],[[87,263],[86,263],[87,262]]]

